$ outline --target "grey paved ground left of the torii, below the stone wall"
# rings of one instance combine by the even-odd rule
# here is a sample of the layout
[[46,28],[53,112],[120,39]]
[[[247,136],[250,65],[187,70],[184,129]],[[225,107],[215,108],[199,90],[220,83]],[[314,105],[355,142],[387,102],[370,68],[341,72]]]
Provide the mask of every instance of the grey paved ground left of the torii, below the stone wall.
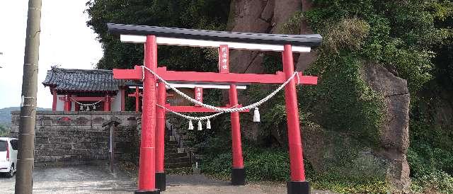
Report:
[[[0,193],[14,193],[16,176],[0,178]],[[123,173],[110,173],[108,166],[37,167],[33,193],[132,193],[136,186]]]

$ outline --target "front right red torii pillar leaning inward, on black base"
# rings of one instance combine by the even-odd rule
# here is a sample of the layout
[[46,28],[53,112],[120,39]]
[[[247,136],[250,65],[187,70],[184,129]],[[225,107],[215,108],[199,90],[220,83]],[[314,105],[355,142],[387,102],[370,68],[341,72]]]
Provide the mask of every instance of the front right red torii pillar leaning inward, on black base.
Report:
[[[285,77],[289,79],[294,74],[291,45],[285,45],[282,54],[283,72],[285,72]],[[304,174],[299,109],[297,108],[297,91],[294,79],[285,86],[285,105],[288,127],[289,168],[291,171],[291,181],[287,182],[287,193],[310,193],[309,183],[305,181]]]

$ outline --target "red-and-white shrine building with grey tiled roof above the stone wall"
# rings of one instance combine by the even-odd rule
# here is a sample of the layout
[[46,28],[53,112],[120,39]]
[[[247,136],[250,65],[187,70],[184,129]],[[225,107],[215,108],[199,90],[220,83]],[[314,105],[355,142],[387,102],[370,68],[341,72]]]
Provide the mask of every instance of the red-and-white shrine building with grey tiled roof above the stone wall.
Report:
[[53,111],[124,111],[125,81],[111,70],[52,67],[42,82],[53,96]]

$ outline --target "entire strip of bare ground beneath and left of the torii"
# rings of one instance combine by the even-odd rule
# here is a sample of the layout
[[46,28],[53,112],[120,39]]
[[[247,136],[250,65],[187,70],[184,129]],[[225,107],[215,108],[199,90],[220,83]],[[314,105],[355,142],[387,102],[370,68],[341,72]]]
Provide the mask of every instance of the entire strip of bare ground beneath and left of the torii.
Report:
[[[0,193],[14,193],[15,178],[0,178]],[[251,183],[231,186],[202,175],[167,175],[165,194],[173,193],[287,193],[284,184]],[[133,193],[136,178],[123,171],[110,173],[107,165],[36,167],[33,193]],[[327,193],[312,190],[312,193]]]

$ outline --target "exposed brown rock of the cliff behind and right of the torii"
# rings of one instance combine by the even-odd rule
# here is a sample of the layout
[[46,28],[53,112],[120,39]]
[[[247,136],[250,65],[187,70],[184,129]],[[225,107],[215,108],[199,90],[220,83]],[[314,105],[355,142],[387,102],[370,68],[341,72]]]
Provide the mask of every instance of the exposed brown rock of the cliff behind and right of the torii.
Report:
[[[304,11],[311,9],[311,1],[307,0],[233,0],[231,1],[229,22],[227,30],[253,33],[312,33],[309,25],[303,19]],[[302,13],[302,14],[301,14]],[[299,16],[299,17],[297,17]],[[295,22],[294,22],[295,21]],[[288,29],[292,28],[292,29]],[[297,28],[294,30],[294,27]],[[294,54],[296,69],[304,71],[316,61],[318,51]],[[265,53],[256,51],[232,51],[230,53],[232,72],[263,73],[263,56]],[[360,163],[367,157],[373,159],[373,164],[380,164],[378,158],[383,158],[386,180],[398,189],[406,189],[410,184],[406,152],[408,149],[408,110],[409,94],[406,80],[391,74],[384,67],[369,65],[362,72],[363,79],[372,89],[382,95],[385,104],[384,122],[380,129],[379,147],[369,148],[369,152],[361,150],[354,162]],[[322,79],[322,77],[321,77]],[[245,98],[242,98],[245,100]],[[244,125],[243,125],[244,126]],[[253,126],[253,125],[250,125]],[[248,132],[246,130],[249,130]],[[245,136],[256,140],[256,126],[246,127]],[[328,166],[326,158],[329,153],[339,152],[333,146],[346,147],[336,144],[335,138],[320,132],[322,130],[306,129],[304,146],[306,159],[314,166],[315,171],[323,171]],[[275,133],[275,132],[274,132]],[[285,133],[278,132],[277,139],[283,139]],[[338,135],[345,137],[345,135]],[[349,137],[345,137],[349,139]],[[347,149],[343,149],[347,150]],[[371,153],[371,154],[370,154]],[[378,162],[379,161],[379,162]],[[357,163],[356,162],[356,163]],[[379,166],[379,165],[376,165]],[[360,169],[359,169],[360,170]],[[364,170],[364,169],[362,169]]]

